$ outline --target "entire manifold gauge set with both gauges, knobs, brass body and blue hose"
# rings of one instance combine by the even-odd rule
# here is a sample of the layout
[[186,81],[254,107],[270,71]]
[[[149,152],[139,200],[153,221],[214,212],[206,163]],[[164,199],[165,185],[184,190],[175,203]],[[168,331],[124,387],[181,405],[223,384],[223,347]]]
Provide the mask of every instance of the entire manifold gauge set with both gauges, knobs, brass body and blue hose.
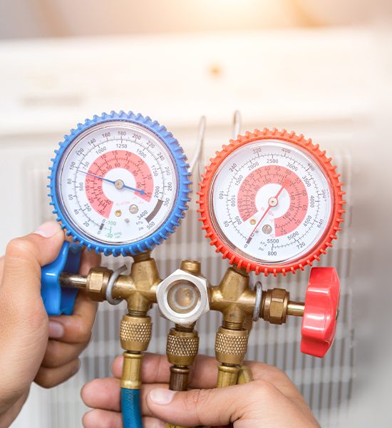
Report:
[[[190,202],[191,173],[178,141],[158,122],[133,113],[94,116],[71,130],[52,159],[53,213],[73,244],[43,267],[48,315],[71,314],[78,290],[127,312],[120,324],[125,350],[121,379],[125,427],[141,427],[138,397],[143,352],[153,325],[148,311],[173,322],[167,335],[170,388],[187,389],[198,352],[195,324],[222,313],[217,331],[217,386],[251,378],[243,365],[252,322],[283,324],[303,317],[301,351],[323,357],[334,340],[339,277],[334,267],[312,267],[304,302],[282,288],[251,287],[249,273],[291,275],[313,265],[344,221],[344,191],[331,158],[294,132],[247,132],[230,140],[205,168],[197,195],[202,230],[229,267],[218,285],[197,260],[183,260],[161,278],[151,252],[180,226]],[[81,250],[131,256],[127,267],[94,267],[78,274]],[[99,315],[98,315],[99,316]],[[132,424],[129,422],[133,420]]]

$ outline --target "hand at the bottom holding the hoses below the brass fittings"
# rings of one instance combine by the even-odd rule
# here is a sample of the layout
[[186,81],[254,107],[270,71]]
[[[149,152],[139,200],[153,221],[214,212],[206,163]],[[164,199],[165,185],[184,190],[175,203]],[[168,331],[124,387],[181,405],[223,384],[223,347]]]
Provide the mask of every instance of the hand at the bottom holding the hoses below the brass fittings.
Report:
[[[112,365],[114,377],[94,379],[83,387],[83,401],[93,407],[84,415],[83,427],[123,427],[122,365],[123,357],[117,357]],[[189,427],[232,423],[234,428],[320,428],[284,372],[261,362],[246,365],[252,371],[252,382],[217,389],[217,361],[200,355],[190,374],[190,387],[194,389],[173,392],[167,389],[170,364],[166,355],[145,355],[140,394],[143,427],[166,427],[168,422]]]

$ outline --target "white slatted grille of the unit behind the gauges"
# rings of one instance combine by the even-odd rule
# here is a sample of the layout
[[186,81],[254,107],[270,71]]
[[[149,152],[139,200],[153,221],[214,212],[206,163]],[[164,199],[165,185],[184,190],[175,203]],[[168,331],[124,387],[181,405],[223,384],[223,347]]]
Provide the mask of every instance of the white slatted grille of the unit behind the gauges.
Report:
[[[348,153],[334,155],[339,170],[344,177],[347,200],[351,188],[351,157]],[[49,215],[49,210],[37,201],[43,200],[46,183],[46,171],[43,163],[29,163],[25,173],[31,183],[31,199],[33,218],[36,224],[43,217]],[[37,194],[41,192],[41,194]],[[35,205],[34,205],[34,201]],[[170,274],[179,267],[182,258],[195,258],[202,263],[202,272],[212,284],[220,281],[227,261],[210,248],[208,241],[200,230],[200,222],[195,211],[195,203],[187,213],[187,217],[175,235],[160,245],[153,252],[158,262],[160,275]],[[351,288],[349,287],[351,263],[351,235],[350,235],[350,203],[346,215],[344,230],[339,240],[328,255],[322,259],[322,265],[335,266],[341,279],[341,310],[336,332],[336,340],[331,351],[323,360],[302,355],[299,351],[301,340],[301,319],[290,317],[286,325],[270,325],[260,320],[254,325],[249,339],[247,359],[259,360],[276,365],[293,380],[306,401],[313,409],[322,427],[338,427],[341,412],[346,409],[351,397],[353,380],[354,353],[353,353],[353,327],[351,325]],[[130,263],[130,259],[107,258],[105,264],[117,267],[123,263]],[[284,287],[290,290],[293,298],[303,299],[306,290],[306,280],[309,269],[296,275],[287,277],[262,277],[264,288]],[[120,318],[125,312],[125,305],[116,307],[106,302],[100,304],[93,330],[93,340],[88,349],[81,356],[81,371],[71,379],[50,392],[34,387],[38,394],[38,403],[42,407],[37,427],[79,427],[81,417],[86,408],[79,397],[79,390],[86,381],[110,375],[110,362],[121,351],[118,341]],[[156,307],[151,311],[153,318],[153,340],[150,352],[165,352],[166,335],[170,322],[158,315]],[[200,332],[200,353],[214,355],[215,332],[220,325],[220,315],[210,312],[198,322],[197,330]]]

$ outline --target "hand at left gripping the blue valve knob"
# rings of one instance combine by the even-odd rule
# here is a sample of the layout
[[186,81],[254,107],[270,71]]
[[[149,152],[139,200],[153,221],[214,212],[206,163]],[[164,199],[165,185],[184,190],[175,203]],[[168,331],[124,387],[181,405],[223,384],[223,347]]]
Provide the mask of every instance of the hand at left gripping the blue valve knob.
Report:
[[[63,241],[58,223],[44,223],[11,240],[0,258],[0,427],[15,419],[31,382],[48,388],[75,374],[90,340],[95,302],[79,292],[73,315],[48,317],[41,299],[41,267],[56,259]],[[81,273],[99,261],[83,251]]]

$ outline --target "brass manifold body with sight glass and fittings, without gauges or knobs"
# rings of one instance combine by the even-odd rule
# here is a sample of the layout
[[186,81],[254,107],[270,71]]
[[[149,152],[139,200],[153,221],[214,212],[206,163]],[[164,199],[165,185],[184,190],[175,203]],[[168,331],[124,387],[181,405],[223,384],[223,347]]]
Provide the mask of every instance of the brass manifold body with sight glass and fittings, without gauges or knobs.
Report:
[[199,347],[195,322],[208,310],[222,313],[217,331],[215,355],[218,362],[217,386],[249,381],[242,363],[252,322],[262,318],[272,324],[286,322],[288,315],[304,315],[304,303],[294,302],[281,288],[262,290],[249,287],[244,270],[229,267],[219,285],[211,286],[202,276],[200,263],[184,260],[180,269],[161,280],[150,253],[134,256],[130,275],[120,275],[106,267],[94,267],[87,276],[61,274],[63,287],[78,287],[92,300],[117,303],[125,300],[128,313],[120,324],[120,342],[125,350],[121,386],[139,389],[143,352],[148,349],[152,323],[148,311],[158,303],[161,315],[174,322],[167,335],[170,388],[187,389],[188,375]]

